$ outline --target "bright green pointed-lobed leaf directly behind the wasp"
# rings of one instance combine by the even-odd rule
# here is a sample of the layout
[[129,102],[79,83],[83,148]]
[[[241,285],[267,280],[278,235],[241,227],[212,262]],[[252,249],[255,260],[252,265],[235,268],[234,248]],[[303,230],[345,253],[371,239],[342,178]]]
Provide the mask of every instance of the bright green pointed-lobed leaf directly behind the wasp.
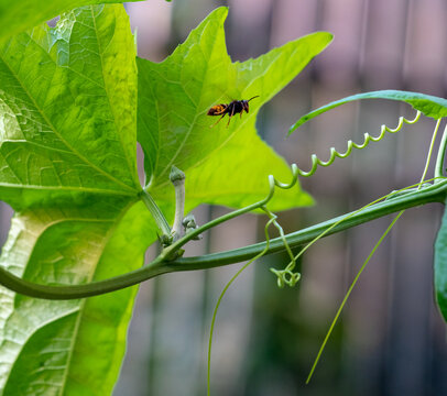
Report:
[[[263,198],[268,175],[290,180],[291,170],[255,133],[262,105],[290,82],[331,41],[329,33],[307,35],[257,59],[232,63],[225,44],[228,10],[215,10],[162,63],[138,59],[138,140],[145,153],[151,193],[172,196],[167,175],[175,165],[186,173],[187,199],[240,207]],[[250,113],[210,128],[217,103],[249,99]],[[273,209],[308,205],[297,187],[279,191]]]

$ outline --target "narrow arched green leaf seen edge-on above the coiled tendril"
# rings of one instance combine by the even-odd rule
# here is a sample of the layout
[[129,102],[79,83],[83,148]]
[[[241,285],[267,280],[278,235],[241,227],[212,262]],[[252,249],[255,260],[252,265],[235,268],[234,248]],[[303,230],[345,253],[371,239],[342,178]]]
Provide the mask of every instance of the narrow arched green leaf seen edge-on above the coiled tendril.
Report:
[[328,105],[321,106],[320,108],[310,111],[306,116],[303,116],[298,121],[296,121],[288,130],[288,134],[293,133],[298,127],[303,125],[308,120],[312,120],[313,118],[330,109],[360,99],[390,99],[404,101],[405,103],[411,105],[415,110],[421,111],[426,117],[430,117],[434,119],[447,117],[447,100],[444,98],[438,98],[432,95],[418,92],[408,92],[389,89],[352,95],[347,98],[336,100]]

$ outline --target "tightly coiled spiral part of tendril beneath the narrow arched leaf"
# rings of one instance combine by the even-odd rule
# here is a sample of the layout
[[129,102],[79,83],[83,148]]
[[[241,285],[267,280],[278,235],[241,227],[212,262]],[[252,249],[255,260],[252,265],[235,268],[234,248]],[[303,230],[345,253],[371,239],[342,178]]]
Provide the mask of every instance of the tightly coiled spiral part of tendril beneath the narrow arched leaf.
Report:
[[386,134],[386,132],[389,132],[389,133],[396,133],[396,132],[399,132],[399,131],[402,129],[402,127],[404,125],[404,123],[406,123],[406,124],[414,124],[414,123],[416,123],[416,122],[419,120],[419,118],[421,118],[421,111],[417,111],[417,112],[416,112],[416,116],[414,117],[413,120],[407,120],[407,119],[404,118],[404,117],[400,117],[400,118],[399,118],[397,127],[394,128],[394,129],[393,129],[393,128],[389,128],[389,127],[386,127],[385,124],[382,124],[381,128],[380,128],[380,134],[379,134],[379,136],[375,136],[375,138],[374,138],[374,136],[370,135],[368,132],[366,132],[366,133],[363,134],[364,140],[363,140],[363,143],[362,143],[362,144],[357,144],[357,143],[352,142],[351,140],[349,140],[348,143],[347,143],[348,148],[347,148],[347,151],[346,151],[345,153],[340,153],[340,152],[338,152],[335,147],[330,147],[330,156],[329,156],[329,160],[326,161],[326,162],[319,160],[315,154],[313,154],[313,155],[310,156],[310,158],[312,158],[312,167],[310,167],[310,170],[305,172],[305,170],[302,170],[302,169],[298,168],[298,169],[297,169],[297,170],[298,170],[298,175],[299,175],[299,176],[303,176],[303,177],[309,177],[309,176],[312,176],[312,175],[315,174],[315,172],[317,170],[317,167],[318,167],[318,166],[329,166],[329,165],[331,165],[331,164],[334,163],[334,161],[335,161],[336,157],[346,158],[346,157],[348,157],[348,156],[351,154],[352,148],[362,150],[362,148],[367,147],[367,146],[370,144],[370,142],[379,142],[379,141],[381,141],[381,140],[383,139],[383,136]]

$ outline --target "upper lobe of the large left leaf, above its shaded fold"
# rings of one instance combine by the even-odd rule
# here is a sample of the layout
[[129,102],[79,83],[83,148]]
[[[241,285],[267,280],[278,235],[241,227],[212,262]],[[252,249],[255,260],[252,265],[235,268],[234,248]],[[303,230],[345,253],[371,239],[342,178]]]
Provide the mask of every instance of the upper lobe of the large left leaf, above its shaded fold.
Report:
[[78,9],[0,50],[0,197],[15,209],[140,189],[133,37],[121,6],[102,10]]

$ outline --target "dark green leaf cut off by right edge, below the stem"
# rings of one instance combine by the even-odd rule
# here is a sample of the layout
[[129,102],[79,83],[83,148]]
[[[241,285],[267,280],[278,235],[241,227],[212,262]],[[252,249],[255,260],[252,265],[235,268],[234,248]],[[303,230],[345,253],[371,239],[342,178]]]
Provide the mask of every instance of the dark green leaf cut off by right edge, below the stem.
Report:
[[447,323],[447,211],[444,210],[435,242],[435,295],[440,314]]

